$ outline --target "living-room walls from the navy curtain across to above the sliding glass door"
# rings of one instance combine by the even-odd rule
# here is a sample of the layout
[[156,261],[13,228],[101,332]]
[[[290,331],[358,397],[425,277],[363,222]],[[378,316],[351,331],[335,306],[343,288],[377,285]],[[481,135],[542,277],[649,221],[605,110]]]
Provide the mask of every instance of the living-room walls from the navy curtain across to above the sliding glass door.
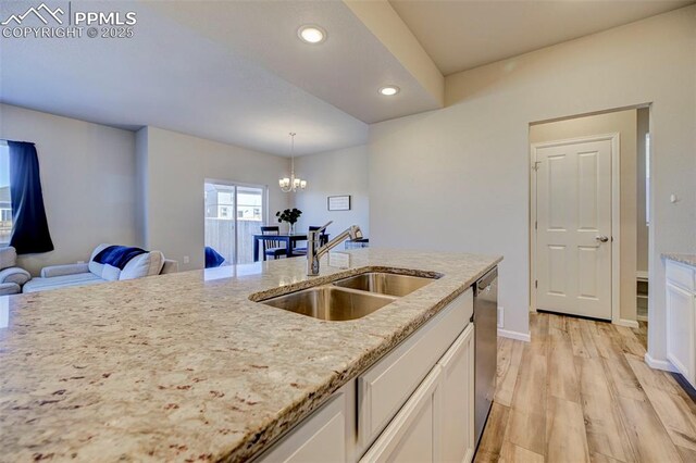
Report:
[[21,256],[35,275],[87,261],[101,242],[160,249],[182,270],[202,268],[206,178],[269,185],[272,213],[289,203],[276,188],[287,159],[156,127],[133,133],[0,104],[0,138],[33,141],[39,154],[55,250]]

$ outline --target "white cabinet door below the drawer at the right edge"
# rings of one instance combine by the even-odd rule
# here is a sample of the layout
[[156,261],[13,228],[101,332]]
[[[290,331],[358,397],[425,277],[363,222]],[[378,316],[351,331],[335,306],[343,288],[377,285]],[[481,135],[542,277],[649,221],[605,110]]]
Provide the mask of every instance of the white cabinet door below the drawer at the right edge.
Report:
[[694,295],[667,284],[667,358],[692,385],[696,385],[694,309]]

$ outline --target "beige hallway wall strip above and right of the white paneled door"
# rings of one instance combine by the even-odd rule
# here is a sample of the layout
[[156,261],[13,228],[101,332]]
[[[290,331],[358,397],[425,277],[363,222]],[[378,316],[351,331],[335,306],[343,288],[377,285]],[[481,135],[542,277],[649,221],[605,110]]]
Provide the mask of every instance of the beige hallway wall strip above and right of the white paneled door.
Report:
[[536,124],[530,143],[618,133],[620,137],[620,300],[621,318],[636,320],[636,110]]

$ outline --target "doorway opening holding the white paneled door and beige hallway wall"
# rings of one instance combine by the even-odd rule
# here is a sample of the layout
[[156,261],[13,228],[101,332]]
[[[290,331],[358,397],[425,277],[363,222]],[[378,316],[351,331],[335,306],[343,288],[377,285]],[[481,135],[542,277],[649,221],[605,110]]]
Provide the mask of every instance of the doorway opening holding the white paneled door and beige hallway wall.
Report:
[[639,111],[530,125],[531,311],[638,328]]

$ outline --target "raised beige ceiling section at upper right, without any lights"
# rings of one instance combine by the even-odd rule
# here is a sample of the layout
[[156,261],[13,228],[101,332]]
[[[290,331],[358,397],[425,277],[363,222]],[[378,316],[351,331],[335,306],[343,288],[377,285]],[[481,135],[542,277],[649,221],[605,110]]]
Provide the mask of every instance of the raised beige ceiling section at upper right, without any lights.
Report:
[[389,0],[444,75],[694,3],[693,0]]

